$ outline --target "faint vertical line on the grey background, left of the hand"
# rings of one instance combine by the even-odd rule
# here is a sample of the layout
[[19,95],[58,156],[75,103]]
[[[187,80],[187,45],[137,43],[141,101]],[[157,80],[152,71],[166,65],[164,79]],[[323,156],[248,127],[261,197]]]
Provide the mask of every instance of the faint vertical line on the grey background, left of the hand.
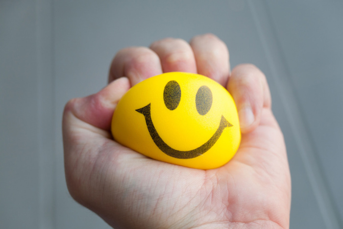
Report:
[[55,228],[54,83],[51,0],[36,0],[39,227]]

